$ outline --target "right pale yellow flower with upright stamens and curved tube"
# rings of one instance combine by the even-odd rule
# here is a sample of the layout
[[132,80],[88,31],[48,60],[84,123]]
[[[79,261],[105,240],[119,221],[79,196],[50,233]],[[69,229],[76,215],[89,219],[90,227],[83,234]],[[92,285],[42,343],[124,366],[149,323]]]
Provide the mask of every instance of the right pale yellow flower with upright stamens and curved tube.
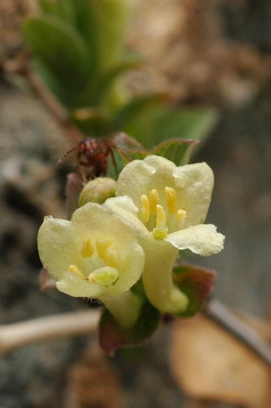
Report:
[[134,160],[124,167],[116,197],[105,206],[136,229],[145,252],[142,274],[150,302],[159,310],[181,313],[187,297],[172,282],[179,249],[209,256],[223,248],[224,236],[203,224],[213,189],[206,163],[176,167],[159,156]]

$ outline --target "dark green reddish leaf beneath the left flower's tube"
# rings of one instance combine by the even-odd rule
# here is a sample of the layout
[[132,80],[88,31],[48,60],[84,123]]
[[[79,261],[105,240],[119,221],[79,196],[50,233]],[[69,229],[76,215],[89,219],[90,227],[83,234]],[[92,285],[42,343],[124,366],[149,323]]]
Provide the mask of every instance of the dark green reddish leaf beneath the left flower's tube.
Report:
[[151,337],[159,320],[160,313],[147,299],[142,305],[136,324],[130,329],[121,327],[111,313],[104,309],[99,323],[100,347],[112,355],[119,347],[141,344]]

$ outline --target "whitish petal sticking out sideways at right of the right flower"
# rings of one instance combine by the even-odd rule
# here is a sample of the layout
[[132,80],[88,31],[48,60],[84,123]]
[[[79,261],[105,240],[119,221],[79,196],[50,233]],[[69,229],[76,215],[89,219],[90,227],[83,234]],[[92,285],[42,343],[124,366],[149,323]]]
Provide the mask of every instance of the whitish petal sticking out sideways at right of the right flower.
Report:
[[216,232],[212,224],[194,225],[185,230],[169,234],[166,241],[178,249],[190,249],[203,257],[218,253],[223,249],[225,237]]

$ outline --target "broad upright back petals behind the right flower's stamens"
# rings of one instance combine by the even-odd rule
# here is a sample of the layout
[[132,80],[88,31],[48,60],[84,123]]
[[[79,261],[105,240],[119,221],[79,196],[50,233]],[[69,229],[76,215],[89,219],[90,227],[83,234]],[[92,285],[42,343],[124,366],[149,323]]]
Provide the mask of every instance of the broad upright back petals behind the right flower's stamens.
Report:
[[116,196],[130,196],[134,205],[141,209],[142,195],[149,196],[150,191],[155,189],[159,205],[169,217],[170,232],[174,232],[178,230],[178,225],[176,218],[173,220],[172,213],[167,210],[166,187],[172,188],[176,193],[177,210],[186,212],[182,228],[204,222],[213,189],[213,172],[206,163],[176,167],[174,163],[160,156],[134,160],[121,171]]

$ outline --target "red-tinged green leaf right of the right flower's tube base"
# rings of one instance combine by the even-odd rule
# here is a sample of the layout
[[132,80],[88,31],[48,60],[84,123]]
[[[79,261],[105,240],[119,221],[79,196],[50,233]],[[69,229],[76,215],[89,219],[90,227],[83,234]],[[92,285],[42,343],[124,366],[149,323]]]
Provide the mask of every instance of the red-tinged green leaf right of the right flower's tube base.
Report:
[[173,282],[189,299],[185,312],[178,314],[186,318],[193,316],[202,307],[215,282],[215,272],[210,269],[184,265],[173,268]]

